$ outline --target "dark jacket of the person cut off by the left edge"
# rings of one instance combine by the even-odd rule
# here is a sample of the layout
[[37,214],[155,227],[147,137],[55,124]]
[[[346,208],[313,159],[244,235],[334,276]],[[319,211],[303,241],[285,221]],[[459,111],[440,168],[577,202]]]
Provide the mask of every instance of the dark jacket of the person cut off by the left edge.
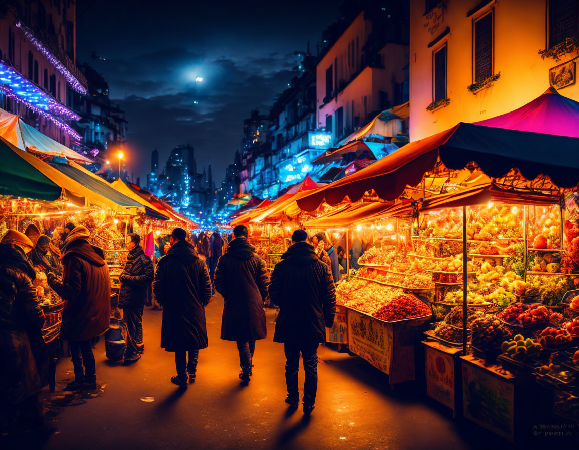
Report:
[[[19,404],[42,389],[39,371],[45,316],[24,254],[0,244],[0,404]],[[34,274],[34,271],[32,271]],[[35,348],[36,345],[36,348]],[[42,346],[42,347],[41,347]],[[36,357],[35,357],[36,353]]]

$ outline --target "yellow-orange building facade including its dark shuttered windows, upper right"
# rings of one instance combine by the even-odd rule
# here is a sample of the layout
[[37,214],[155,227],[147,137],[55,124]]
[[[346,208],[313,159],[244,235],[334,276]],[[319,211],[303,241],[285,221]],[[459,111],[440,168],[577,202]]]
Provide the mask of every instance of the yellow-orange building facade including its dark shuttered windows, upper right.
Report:
[[577,0],[410,6],[411,141],[509,112],[549,86],[579,100]]

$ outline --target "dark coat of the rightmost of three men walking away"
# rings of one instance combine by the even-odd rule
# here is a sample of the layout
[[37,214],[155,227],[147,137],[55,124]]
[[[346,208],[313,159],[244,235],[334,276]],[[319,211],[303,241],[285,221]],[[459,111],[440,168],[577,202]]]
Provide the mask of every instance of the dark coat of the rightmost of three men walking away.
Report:
[[334,323],[336,290],[331,272],[312,245],[296,242],[281,256],[269,296],[280,307],[274,341],[325,342],[325,328]]

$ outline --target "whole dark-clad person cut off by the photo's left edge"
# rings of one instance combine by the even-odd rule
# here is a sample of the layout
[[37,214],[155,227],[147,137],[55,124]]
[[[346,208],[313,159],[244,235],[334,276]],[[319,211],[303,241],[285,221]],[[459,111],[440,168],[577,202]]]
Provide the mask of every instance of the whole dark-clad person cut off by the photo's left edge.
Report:
[[42,374],[34,344],[42,340],[45,316],[34,278],[23,249],[0,244],[0,433],[42,425]]

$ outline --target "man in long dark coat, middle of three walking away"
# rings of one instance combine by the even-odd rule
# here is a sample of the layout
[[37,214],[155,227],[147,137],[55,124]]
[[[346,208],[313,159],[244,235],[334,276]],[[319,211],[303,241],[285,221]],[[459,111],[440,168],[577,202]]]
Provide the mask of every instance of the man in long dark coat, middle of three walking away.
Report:
[[267,335],[263,304],[267,300],[267,268],[255,247],[247,242],[244,225],[233,228],[229,242],[215,269],[215,289],[223,296],[221,338],[237,341],[241,372],[239,378],[250,381],[255,341]]

